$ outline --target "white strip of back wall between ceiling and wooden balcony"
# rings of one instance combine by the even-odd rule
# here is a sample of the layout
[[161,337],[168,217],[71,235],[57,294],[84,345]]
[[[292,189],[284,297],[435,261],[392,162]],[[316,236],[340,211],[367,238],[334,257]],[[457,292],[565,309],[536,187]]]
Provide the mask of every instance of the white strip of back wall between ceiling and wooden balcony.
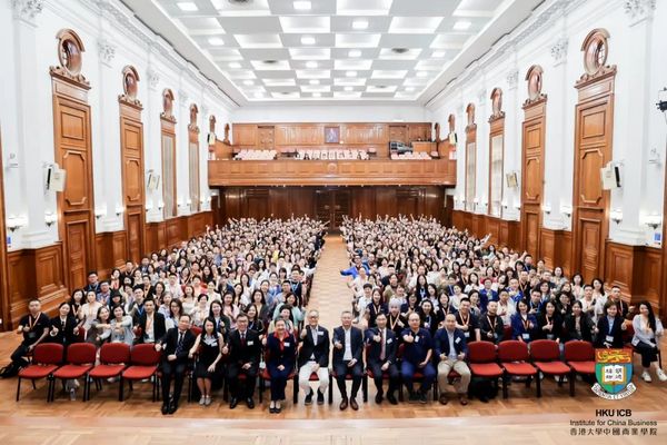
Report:
[[231,113],[232,122],[429,122],[430,112],[408,105],[247,106]]

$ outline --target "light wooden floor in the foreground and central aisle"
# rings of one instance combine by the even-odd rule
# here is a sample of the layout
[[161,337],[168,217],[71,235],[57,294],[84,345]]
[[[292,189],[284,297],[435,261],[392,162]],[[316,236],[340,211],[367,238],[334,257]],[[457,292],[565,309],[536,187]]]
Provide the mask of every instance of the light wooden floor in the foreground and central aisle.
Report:
[[[339,325],[340,312],[350,305],[350,294],[339,269],[347,264],[340,237],[327,238],[318,264],[310,307],[321,313],[321,324],[329,329]],[[19,337],[0,336],[0,357],[7,363]],[[663,350],[667,350],[664,347]],[[638,366],[638,364],[635,364]],[[468,406],[450,402],[447,406],[400,404],[378,406],[372,400],[375,388],[369,383],[369,402],[354,412],[338,409],[335,404],[305,406],[302,394],[298,406],[289,400],[279,415],[258,404],[255,409],[239,405],[230,411],[221,396],[209,407],[182,404],[169,417],[160,414],[160,404],[150,402],[150,387],[135,387],[123,403],[118,402],[117,385],[104,385],[102,392],[91,390],[91,400],[70,402],[57,393],[56,402],[47,404],[43,383],[32,390],[23,384],[22,397],[14,402],[16,379],[0,380],[0,445],[6,444],[189,444],[231,443],[256,444],[494,444],[526,443],[535,445],[564,443],[576,438],[585,443],[667,443],[667,384],[653,384],[634,378],[637,392],[623,402],[599,398],[583,382],[577,383],[577,397],[569,397],[567,385],[559,388],[545,378],[542,397],[521,384],[510,386],[509,398],[488,404],[471,400]],[[288,392],[291,390],[291,384]],[[452,389],[451,389],[452,390]],[[290,393],[288,393],[290,394]],[[657,421],[658,436],[570,436],[570,421],[593,419],[595,409],[633,409],[634,421]],[[481,418],[484,417],[484,418]],[[518,441],[518,442],[517,442]]]

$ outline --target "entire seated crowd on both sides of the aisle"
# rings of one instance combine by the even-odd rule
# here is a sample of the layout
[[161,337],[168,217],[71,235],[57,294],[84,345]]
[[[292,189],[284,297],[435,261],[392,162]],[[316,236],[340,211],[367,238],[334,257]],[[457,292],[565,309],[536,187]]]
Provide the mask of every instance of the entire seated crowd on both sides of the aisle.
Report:
[[[667,380],[657,366],[664,330],[651,305],[628,306],[620,289],[603,279],[570,279],[560,267],[550,270],[527,253],[496,249],[488,236],[479,239],[435,218],[345,218],[341,234],[350,263],[340,274],[351,300],[331,330],[308,307],[325,225],[308,217],[231,219],[179,248],[128,261],[108,280],[91,273],[53,318],[39,300],[30,301],[17,330],[23,340],[3,376],[27,366],[44,342],[153,344],[162,353],[162,414],[178,409],[187,369],[203,406],[226,382],[230,408],[241,402],[253,408],[265,372],[270,413],[281,412],[292,377],[307,405],[325,403],[332,378],[340,409],[359,409],[366,376],[378,404],[398,404],[401,386],[409,402],[427,403],[434,384],[447,404],[452,383],[467,405],[469,394],[482,402],[495,396],[487,390],[492,386],[472,379],[470,343],[514,339],[529,347],[536,339],[561,346],[576,339],[598,348],[631,344],[641,355],[641,378],[650,382],[653,370]],[[67,382],[72,398],[77,386]]]

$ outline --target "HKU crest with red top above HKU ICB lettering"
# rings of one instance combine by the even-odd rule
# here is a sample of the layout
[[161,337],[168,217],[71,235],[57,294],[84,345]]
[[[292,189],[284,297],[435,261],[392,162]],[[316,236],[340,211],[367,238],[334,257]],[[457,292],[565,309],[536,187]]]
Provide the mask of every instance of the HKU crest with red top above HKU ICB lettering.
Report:
[[608,400],[620,400],[628,397],[637,387],[633,379],[631,349],[596,349],[595,376],[597,383],[593,392]]

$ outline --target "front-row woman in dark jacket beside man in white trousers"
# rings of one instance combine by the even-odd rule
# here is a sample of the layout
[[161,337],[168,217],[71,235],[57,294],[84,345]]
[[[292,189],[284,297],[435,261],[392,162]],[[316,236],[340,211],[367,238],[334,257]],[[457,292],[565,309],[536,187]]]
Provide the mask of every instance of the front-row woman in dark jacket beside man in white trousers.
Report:
[[267,339],[267,370],[271,376],[271,403],[269,413],[278,414],[282,409],[280,403],[286,399],[285,387],[296,365],[297,339],[287,329],[285,320],[276,322],[276,329]]

